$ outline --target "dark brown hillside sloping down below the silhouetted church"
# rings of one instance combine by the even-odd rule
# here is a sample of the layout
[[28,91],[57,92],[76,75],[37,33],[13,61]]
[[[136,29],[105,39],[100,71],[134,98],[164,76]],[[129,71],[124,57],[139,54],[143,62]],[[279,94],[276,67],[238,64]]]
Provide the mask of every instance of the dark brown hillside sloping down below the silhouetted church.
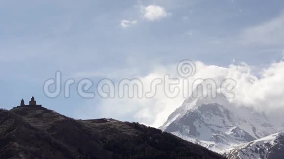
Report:
[[1,159],[224,159],[159,129],[115,119],[75,120],[42,106],[0,110]]

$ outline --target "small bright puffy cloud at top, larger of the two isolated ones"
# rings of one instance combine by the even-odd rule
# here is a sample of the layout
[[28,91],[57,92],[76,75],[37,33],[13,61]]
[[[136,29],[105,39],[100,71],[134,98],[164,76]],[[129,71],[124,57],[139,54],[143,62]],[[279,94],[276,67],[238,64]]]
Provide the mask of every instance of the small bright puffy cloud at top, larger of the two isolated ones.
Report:
[[144,18],[147,20],[159,20],[165,18],[169,14],[166,12],[165,8],[159,5],[148,5],[146,7],[141,7],[141,12],[144,15]]

